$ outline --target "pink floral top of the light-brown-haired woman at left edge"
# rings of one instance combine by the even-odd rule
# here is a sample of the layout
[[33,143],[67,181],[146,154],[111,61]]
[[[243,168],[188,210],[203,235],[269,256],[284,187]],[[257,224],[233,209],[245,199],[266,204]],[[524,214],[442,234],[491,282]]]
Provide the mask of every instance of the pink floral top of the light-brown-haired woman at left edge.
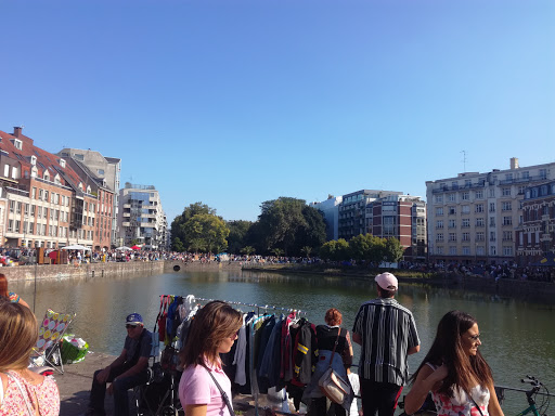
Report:
[[[0,416],[30,416],[27,404],[33,411],[31,414],[35,415],[37,402],[40,416],[57,416],[60,414],[60,392],[53,377],[47,376],[40,385],[33,385],[18,373],[8,372],[4,374],[8,375],[8,389],[0,403]],[[14,379],[20,382],[23,394]],[[1,382],[0,388],[3,391]]]

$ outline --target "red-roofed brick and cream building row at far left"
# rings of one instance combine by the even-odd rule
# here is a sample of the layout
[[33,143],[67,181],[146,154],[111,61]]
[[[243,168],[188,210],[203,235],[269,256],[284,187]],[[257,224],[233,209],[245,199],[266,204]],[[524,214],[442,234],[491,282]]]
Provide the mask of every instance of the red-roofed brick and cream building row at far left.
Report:
[[3,245],[93,245],[96,196],[66,160],[35,146],[21,127],[0,131]]

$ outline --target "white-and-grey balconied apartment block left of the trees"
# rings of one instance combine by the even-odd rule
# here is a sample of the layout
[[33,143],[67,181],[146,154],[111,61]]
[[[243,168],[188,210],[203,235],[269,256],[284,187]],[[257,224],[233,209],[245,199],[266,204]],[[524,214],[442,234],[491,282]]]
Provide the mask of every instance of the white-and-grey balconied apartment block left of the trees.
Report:
[[118,226],[122,245],[141,244],[155,250],[167,247],[167,219],[153,185],[126,182],[119,191]]

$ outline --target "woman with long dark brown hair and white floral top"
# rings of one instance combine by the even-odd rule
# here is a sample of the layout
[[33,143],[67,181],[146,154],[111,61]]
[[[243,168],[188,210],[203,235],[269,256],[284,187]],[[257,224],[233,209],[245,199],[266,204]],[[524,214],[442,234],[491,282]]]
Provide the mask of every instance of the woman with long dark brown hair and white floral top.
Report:
[[503,416],[491,368],[479,346],[476,320],[465,312],[448,312],[439,322],[428,354],[412,376],[404,411],[418,411],[431,391],[438,416]]

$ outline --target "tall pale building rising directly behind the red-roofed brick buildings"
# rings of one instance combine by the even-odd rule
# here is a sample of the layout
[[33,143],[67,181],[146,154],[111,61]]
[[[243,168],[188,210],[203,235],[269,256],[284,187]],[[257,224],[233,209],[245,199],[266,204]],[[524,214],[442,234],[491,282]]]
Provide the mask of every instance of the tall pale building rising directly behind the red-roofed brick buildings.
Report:
[[[57,153],[90,185],[99,196],[94,236],[95,248],[117,246],[117,210],[121,159],[105,157],[100,152],[81,148],[63,148]],[[106,235],[107,234],[107,235]]]

